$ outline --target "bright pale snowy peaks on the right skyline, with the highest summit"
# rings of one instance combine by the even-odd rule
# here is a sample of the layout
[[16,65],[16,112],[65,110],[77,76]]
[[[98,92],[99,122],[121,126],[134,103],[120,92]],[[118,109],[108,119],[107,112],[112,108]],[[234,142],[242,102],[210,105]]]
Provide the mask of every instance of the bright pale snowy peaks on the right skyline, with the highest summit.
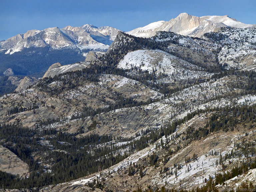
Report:
[[244,24],[225,16],[196,17],[187,13],[181,13],[170,21],[158,21],[145,27],[140,27],[127,32],[137,37],[152,37],[157,31],[171,31],[191,37],[201,37],[204,33],[213,32],[220,27],[256,28],[256,25]]

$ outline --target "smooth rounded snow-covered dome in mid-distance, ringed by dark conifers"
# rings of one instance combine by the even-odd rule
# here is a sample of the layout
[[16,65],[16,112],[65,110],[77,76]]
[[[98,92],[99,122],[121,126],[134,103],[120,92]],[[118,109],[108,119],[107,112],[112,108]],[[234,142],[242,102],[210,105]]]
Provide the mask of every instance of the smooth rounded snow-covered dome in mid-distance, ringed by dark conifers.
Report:
[[119,62],[117,67],[123,69],[138,67],[150,73],[153,71],[156,71],[157,74],[164,73],[168,75],[168,78],[163,78],[163,81],[166,82],[211,76],[211,74],[201,71],[198,66],[161,50],[137,50],[129,52]]

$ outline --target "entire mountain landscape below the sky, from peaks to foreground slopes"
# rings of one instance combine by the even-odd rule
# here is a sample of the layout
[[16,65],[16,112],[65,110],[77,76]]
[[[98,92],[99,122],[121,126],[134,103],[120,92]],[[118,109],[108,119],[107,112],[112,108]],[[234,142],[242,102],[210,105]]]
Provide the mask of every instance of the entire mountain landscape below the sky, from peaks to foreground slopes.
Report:
[[254,191],[255,28],[181,13],[2,41],[0,191]]

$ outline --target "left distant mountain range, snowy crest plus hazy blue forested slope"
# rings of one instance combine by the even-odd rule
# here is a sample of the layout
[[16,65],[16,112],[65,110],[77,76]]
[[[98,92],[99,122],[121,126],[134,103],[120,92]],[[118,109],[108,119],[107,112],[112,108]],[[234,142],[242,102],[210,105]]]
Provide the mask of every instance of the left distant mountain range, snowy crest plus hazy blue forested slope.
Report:
[[14,75],[40,77],[53,63],[71,64],[85,60],[90,50],[106,51],[118,31],[87,24],[18,34],[0,43],[0,74],[11,68]]

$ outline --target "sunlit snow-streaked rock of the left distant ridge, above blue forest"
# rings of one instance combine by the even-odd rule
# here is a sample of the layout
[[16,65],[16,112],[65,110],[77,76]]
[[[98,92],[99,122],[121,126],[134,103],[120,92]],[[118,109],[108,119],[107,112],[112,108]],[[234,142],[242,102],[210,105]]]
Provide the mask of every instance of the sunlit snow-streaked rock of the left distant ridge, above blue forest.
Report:
[[[45,46],[50,46],[53,49],[57,49],[67,46],[78,45],[78,48],[82,50],[81,46],[101,44],[101,42],[95,41],[93,37],[90,36],[90,33],[98,32],[98,35],[100,35],[101,37],[112,41],[112,39],[116,36],[116,33],[119,31],[118,29],[115,29],[113,27],[98,28],[95,26],[91,26],[92,25],[84,25],[81,27],[67,26],[62,29],[58,27],[51,27],[41,31],[29,30],[24,34],[18,34],[2,42],[0,44],[0,48],[1,51],[6,50],[5,54],[13,54],[14,52],[21,51],[23,48]],[[70,31],[72,31],[72,33]],[[104,34],[102,34],[101,32],[103,32]],[[64,42],[61,44],[60,41],[56,41],[57,39],[51,37],[54,33],[56,33],[54,36],[59,36],[59,38],[62,37],[62,41],[67,41],[66,44]],[[33,40],[37,42],[31,44]],[[53,43],[50,43],[50,40],[53,41]]]

